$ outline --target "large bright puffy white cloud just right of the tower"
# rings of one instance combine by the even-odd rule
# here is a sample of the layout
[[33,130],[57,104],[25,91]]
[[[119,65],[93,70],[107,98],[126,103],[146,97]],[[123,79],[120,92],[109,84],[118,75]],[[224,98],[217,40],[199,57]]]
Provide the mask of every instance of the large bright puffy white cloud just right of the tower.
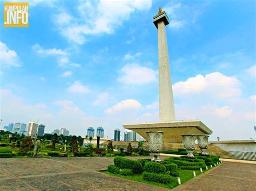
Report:
[[208,95],[218,98],[234,97],[241,94],[240,81],[236,77],[226,76],[219,72],[198,74],[190,77],[185,82],[173,85],[174,95]]

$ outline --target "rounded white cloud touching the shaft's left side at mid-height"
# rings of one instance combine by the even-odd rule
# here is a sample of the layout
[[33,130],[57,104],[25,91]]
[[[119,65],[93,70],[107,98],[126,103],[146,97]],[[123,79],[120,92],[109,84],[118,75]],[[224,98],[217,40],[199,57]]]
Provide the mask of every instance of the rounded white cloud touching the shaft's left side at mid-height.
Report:
[[118,81],[124,84],[144,84],[157,81],[157,72],[145,66],[139,66],[137,63],[125,65],[120,70]]

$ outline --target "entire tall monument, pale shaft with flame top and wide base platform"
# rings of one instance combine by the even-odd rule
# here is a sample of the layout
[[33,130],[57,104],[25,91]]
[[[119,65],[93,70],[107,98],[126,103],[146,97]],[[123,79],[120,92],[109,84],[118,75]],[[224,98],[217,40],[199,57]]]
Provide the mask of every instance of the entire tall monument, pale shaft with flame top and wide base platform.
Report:
[[147,139],[147,131],[163,131],[163,141],[165,143],[182,143],[181,135],[211,135],[212,131],[199,120],[176,121],[165,31],[165,26],[170,22],[165,11],[161,11],[161,8],[159,8],[158,15],[153,17],[153,23],[158,31],[160,120],[154,123],[124,124],[124,128],[136,131],[145,139]]

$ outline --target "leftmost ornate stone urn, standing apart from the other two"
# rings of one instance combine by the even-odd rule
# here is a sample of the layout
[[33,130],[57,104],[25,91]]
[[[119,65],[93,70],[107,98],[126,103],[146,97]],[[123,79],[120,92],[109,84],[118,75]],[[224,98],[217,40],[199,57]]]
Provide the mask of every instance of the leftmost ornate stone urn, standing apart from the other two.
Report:
[[162,150],[163,146],[163,131],[147,131],[147,137],[149,140],[149,150],[151,152],[151,155],[153,155],[153,158],[151,161],[160,162],[160,152]]

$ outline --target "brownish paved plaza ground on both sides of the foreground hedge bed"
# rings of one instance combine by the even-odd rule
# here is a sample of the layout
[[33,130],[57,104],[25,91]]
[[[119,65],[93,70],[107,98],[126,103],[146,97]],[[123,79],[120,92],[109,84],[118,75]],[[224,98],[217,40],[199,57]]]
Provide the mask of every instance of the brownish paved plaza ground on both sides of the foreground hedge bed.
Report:
[[[166,190],[98,172],[110,164],[112,157],[0,159],[0,190]],[[256,165],[224,162],[177,190],[252,190],[255,175]]]

